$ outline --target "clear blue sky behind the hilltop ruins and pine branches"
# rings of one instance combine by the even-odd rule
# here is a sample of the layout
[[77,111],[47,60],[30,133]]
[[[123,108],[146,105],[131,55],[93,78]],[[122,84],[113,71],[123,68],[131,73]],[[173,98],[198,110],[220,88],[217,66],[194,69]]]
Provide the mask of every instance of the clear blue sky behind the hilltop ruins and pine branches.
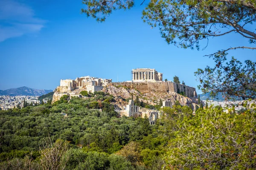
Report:
[[[239,34],[210,39],[204,51],[168,45],[158,28],[143,23],[144,7],[114,11],[97,23],[80,13],[81,0],[0,0],[0,89],[54,90],[60,79],[87,75],[121,82],[131,79],[133,68],[155,68],[163,79],[176,75],[196,87],[197,68],[214,65],[205,54],[248,45]],[[256,61],[255,51],[229,54]]]

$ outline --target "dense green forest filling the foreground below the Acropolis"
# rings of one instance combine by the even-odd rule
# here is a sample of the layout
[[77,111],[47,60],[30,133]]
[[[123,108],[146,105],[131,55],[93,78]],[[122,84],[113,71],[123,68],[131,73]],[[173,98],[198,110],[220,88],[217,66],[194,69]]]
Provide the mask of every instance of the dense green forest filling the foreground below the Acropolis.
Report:
[[0,111],[1,170],[256,169],[254,106],[192,114],[177,103],[150,125],[119,117],[103,92],[67,99]]

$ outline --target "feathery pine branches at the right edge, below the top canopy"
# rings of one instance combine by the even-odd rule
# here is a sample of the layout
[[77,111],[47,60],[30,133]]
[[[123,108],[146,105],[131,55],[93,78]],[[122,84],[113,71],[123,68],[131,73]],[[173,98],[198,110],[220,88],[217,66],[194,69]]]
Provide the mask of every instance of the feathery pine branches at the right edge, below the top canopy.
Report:
[[234,57],[227,62],[227,54],[220,53],[214,58],[216,65],[198,69],[195,75],[200,80],[198,88],[210,97],[218,93],[226,99],[249,99],[256,97],[256,62],[246,60],[244,64]]

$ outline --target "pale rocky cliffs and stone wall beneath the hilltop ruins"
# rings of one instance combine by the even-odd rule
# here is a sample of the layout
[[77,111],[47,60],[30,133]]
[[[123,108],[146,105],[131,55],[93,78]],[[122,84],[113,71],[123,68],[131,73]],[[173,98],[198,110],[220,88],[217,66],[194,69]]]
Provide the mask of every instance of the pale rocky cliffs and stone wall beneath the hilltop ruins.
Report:
[[[64,94],[76,96],[84,90],[86,91],[87,88],[75,89],[71,93],[61,93],[63,91],[57,88],[53,94],[52,103],[58,101]],[[198,103],[195,88],[178,85],[174,82],[115,82],[103,87],[102,91],[113,95],[116,99],[129,99],[133,94],[134,100],[138,96],[140,101],[150,105],[158,105],[160,100],[167,99],[172,102],[172,105],[179,101],[183,106],[192,105],[192,108],[195,108]],[[185,96],[177,94],[177,92],[184,92]],[[120,106],[122,104],[122,102],[119,103]],[[119,107],[119,105],[117,106]]]

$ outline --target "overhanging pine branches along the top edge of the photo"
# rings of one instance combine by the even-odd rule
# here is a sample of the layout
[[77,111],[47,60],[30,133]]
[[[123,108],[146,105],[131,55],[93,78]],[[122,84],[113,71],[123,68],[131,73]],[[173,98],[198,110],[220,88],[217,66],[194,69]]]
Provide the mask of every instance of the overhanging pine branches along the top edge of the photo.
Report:
[[[130,9],[133,0],[82,0],[82,13],[105,21],[117,9]],[[145,2],[142,1],[142,4]],[[255,0],[151,0],[143,10],[143,21],[159,27],[167,43],[199,49],[199,41],[232,32],[256,43],[256,33],[247,27],[256,21]],[[256,47],[233,47],[251,48]]]

